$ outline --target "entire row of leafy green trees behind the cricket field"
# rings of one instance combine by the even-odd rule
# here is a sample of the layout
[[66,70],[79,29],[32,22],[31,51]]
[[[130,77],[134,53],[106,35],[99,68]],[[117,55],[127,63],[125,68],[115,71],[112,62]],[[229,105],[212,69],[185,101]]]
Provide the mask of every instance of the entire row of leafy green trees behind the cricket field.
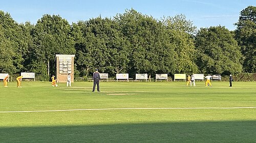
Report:
[[102,73],[256,72],[256,7],[240,12],[237,29],[200,28],[185,15],[155,19],[134,9],[69,24],[59,15],[43,15],[36,24],[17,23],[0,11],[0,73],[35,72],[49,80],[55,54],[75,54],[76,77]]

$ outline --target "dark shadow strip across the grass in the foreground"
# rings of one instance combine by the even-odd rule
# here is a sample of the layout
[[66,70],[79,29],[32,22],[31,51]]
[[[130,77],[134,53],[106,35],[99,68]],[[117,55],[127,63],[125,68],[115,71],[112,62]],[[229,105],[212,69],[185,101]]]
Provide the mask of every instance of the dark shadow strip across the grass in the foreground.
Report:
[[255,142],[256,121],[1,127],[0,142]]

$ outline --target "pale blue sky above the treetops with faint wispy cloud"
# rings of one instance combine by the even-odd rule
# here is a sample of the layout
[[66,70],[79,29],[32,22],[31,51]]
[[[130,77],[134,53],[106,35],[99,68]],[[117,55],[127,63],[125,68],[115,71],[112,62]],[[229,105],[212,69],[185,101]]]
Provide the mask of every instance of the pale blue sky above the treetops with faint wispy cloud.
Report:
[[36,24],[44,14],[59,15],[70,24],[91,18],[113,17],[125,10],[135,9],[156,19],[184,14],[187,20],[200,27],[225,26],[235,30],[240,12],[256,6],[255,0],[2,0],[0,10],[10,13],[18,23]]

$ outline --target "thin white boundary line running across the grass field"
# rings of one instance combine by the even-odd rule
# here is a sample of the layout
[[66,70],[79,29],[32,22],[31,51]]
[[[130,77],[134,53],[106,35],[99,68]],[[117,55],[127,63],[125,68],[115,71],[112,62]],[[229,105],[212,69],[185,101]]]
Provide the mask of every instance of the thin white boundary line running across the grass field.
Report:
[[0,111],[0,113],[13,112],[58,112],[58,111],[83,111],[83,110],[141,110],[141,109],[245,109],[256,107],[162,107],[162,108],[99,108],[99,109],[59,109],[59,110],[31,110],[31,111]]

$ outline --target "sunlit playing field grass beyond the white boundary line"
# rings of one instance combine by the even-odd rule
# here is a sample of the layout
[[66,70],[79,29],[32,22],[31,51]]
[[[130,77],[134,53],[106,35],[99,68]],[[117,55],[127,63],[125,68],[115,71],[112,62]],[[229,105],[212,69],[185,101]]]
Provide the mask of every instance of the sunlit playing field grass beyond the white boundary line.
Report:
[[[1,89],[0,111],[143,108],[143,107],[249,107],[256,106],[256,83],[212,82],[213,87],[186,87],[185,82],[101,82],[100,93],[92,93],[92,82],[75,82],[71,88],[60,83],[15,82]],[[199,87],[201,85],[201,87]],[[169,87],[172,88],[169,88]],[[122,95],[125,94],[125,95]]]

